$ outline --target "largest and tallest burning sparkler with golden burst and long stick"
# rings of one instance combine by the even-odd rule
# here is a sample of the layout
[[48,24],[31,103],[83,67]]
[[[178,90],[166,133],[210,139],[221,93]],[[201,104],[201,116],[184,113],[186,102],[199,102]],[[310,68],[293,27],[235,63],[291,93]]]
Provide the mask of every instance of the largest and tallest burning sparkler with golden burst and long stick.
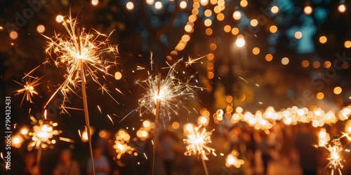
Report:
[[[98,72],[103,73],[108,76],[112,76],[108,73],[108,70],[116,62],[109,61],[108,59],[102,59],[104,55],[113,54],[113,59],[115,59],[115,54],[118,53],[117,45],[110,45],[107,41],[110,35],[101,34],[99,31],[95,31],[95,34],[91,34],[89,31],[86,32],[84,28],[77,28],[77,19],[68,16],[67,20],[62,22],[62,25],[67,30],[68,35],[55,34],[53,38],[48,38],[48,47],[46,52],[53,59],[55,66],[65,67],[67,74],[65,74],[65,81],[58,87],[51,98],[48,100],[44,109],[51,102],[51,99],[61,92],[65,99],[67,99],[67,93],[74,92],[74,90],[81,90],[83,105],[84,105],[84,116],[86,120],[86,128],[88,132],[88,142],[89,142],[89,151],[91,155],[91,164],[93,167],[93,172],[95,174],[95,168],[93,163],[93,151],[91,146],[91,132],[90,132],[90,123],[88,117],[88,102],[86,98],[86,77],[90,76],[91,79],[100,86],[102,92],[106,92],[110,97],[110,91],[107,90],[107,87],[100,83],[98,78]],[[112,33],[110,33],[112,34]],[[98,41],[100,36],[105,37],[105,41]],[[53,54],[56,55],[53,58]],[[105,76],[104,76],[105,78]],[[79,86],[79,83],[81,84]],[[62,106],[65,106],[65,101],[63,100]],[[112,99],[114,99],[112,97]],[[114,99],[114,102],[117,102]],[[118,102],[117,102],[118,103]]]

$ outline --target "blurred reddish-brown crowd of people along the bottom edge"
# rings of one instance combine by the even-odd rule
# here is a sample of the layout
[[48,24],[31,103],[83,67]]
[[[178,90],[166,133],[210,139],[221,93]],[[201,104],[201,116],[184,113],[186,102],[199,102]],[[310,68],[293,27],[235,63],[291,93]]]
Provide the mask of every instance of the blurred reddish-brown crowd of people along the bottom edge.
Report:
[[[336,131],[329,128],[331,135]],[[213,143],[209,146],[216,151],[230,153],[239,152],[239,158],[245,160],[245,166],[237,169],[237,174],[269,174],[270,163],[281,161],[285,165],[300,165],[303,175],[330,174],[331,170],[326,159],[327,152],[317,149],[318,128],[309,124],[296,126],[276,125],[269,132],[254,130],[246,124],[231,128],[222,128],[213,133]],[[110,141],[111,142],[111,141]],[[137,159],[135,155],[125,154],[116,160],[113,150],[108,146],[109,141],[100,141],[93,146],[93,162],[95,174],[151,174],[152,172],[152,137],[138,148],[139,155],[145,158]],[[182,139],[174,132],[163,131],[159,134],[155,158],[155,174],[201,174],[202,165],[197,156],[185,156],[185,146]],[[105,143],[105,144],[103,144]],[[146,156],[148,155],[148,156]],[[259,156],[257,156],[259,155]],[[24,155],[24,167],[20,174],[43,174],[42,167],[36,163],[36,154],[29,152]],[[348,156],[348,157],[347,157]],[[65,148],[60,152],[59,160],[52,170],[54,175],[63,174],[93,174],[91,160],[78,162],[72,158],[72,149]],[[257,160],[257,159],[260,160]],[[345,161],[350,155],[344,155]],[[224,158],[223,158],[224,160]],[[207,161],[209,172],[223,162]],[[85,164],[85,165],[84,165]],[[256,167],[262,167],[258,172]],[[341,169],[343,174],[351,174],[350,166]]]

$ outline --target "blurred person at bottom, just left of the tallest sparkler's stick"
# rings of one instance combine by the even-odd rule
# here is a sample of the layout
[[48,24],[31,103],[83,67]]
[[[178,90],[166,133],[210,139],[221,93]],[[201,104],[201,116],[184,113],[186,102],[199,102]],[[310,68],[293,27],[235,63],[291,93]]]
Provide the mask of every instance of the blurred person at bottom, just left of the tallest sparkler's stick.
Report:
[[53,175],[79,175],[79,164],[77,161],[72,160],[72,152],[65,149],[60,153],[60,162],[53,170]]

